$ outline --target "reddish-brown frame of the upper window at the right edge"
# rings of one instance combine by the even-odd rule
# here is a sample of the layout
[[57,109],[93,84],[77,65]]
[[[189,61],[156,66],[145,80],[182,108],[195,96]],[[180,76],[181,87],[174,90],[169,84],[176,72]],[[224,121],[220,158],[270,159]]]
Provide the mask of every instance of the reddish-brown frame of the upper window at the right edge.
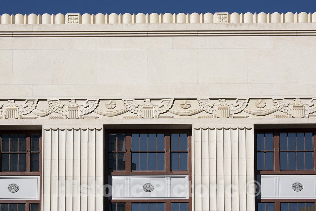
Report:
[[[281,170],[280,168],[280,133],[294,132],[310,132],[313,133],[313,170]],[[257,169],[257,133],[272,133],[273,134],[273,170],[258,170]],[[254,169],[256,175],[260,174],[316,174],[316,130],[315,129],[264,129],[255,130],[254,134]],[[300,150],[296,150],[300,151]],[[260,152],[260,151],[258,151]],[[286,152],[286,151],[284,151]]]

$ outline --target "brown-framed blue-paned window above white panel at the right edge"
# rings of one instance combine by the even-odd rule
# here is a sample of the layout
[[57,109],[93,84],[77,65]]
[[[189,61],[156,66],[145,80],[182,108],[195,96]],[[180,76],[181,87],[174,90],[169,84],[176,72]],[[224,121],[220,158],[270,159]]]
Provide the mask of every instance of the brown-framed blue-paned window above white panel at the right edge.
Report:
[[270,130],[256,134],[257,170],[264,173],[315,173],[313,130]]

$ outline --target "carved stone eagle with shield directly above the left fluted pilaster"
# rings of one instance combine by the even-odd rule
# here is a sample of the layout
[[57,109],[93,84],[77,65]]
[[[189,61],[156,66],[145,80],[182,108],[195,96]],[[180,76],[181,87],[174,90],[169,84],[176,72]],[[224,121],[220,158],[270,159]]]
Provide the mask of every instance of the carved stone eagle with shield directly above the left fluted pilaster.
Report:
[[48,99],[49,107],[62,116],[48,117],[50,119],[83,119],[98,118],[85,117],[84,115],[92,113],[99,105],[99,99],[87,99],[83,104],[77,104],[75,99],[68,100],[68,104],[60,102],[59,99]]

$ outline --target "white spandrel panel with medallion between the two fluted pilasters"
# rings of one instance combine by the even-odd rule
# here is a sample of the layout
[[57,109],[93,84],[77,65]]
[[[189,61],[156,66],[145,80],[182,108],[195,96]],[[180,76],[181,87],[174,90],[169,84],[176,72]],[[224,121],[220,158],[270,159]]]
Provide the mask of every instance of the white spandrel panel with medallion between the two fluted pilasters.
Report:
[[188,176],[182,175],[109,176],[108,181],[112,185],[112,196],[109,198],[188,199],[188,179]]

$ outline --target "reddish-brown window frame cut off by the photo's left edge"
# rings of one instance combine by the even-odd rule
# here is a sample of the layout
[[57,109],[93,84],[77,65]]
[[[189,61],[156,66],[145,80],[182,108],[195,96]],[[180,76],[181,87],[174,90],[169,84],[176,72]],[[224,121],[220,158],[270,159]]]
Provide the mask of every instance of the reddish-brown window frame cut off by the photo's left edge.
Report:
[[[2,134],[8,133],[24,133],[27,134],[27,142],[26,142],[26,171],[3,171],[0,169],[0,176],[40,176],[40,199],[39,200],[2,200],[3,204],[10,203],[22,203],[26,204],[26,211],[30,210],[30,204],[39,204],[39,210],[42,209],[42,148],[43,148],[43,140],[42,140],[42,131],[41,130],[0,130],[0,168],[1,168],[1,154],[2,154]],[[31,171],[31,134],[37,133],[40,134],[40,151],[35,152],[40,154],[40,170],[39,171]],[[4,152],[5,153],[5,152]]]

